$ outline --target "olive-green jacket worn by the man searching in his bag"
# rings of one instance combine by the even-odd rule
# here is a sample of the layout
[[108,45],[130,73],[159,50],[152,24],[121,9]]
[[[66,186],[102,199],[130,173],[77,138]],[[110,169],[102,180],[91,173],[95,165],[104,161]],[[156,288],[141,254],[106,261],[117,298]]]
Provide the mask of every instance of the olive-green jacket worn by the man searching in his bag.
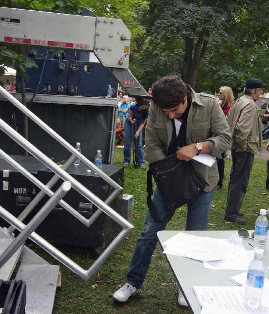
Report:
[[[213,96],[191,90],[192,105],[189,110],[186,144],[204,142],[212,155],[222,158],[221,153],[230,149],[232,141],[224,113]],[[172,139],[172,122],[168,116],[152,104],[145,135],[145,159],[154,162],[165,158]],[[212,167],[191,160],[196,174],[204,182],[204,191],[211,191],[219,181],[217,162]]]

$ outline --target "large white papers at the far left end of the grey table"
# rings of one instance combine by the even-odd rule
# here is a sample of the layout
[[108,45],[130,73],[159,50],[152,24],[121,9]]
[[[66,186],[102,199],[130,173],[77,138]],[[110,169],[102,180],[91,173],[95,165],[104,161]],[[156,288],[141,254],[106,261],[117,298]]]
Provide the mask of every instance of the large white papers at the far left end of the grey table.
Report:
[[185,256],[202,262],[224,260],[227,255],[240,246],[231,244],[226,239],[197,237],[179,232],[163,243],[163,253]]

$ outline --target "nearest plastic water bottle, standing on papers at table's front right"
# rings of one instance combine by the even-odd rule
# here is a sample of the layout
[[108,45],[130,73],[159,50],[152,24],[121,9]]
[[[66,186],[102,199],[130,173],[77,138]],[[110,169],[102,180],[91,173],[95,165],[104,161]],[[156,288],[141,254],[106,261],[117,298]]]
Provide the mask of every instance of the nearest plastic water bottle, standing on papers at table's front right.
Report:
[[254,260],[249,264],[247,270],[247,283],[245,291],[245,304],[251,307],[261,305],[263,298],[263,287],[265,277],[265,266],[262,261],[263,249],[254,251]]

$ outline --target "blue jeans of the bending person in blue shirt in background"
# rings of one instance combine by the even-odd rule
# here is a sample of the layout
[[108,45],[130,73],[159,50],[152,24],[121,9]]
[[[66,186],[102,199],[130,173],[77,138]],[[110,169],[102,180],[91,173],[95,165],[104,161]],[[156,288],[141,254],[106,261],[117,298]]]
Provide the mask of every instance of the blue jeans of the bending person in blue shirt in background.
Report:
[[[135,124],[134,124],[135,129]],[[123,163],[130,163],[131,161],[131,145],[133,140],[133,130],[130,121],[124,123],[124,149],[123,149]],[[142,130],[138,135],[138,162],[139,165],[144,165],[144,149],[142,146]]]

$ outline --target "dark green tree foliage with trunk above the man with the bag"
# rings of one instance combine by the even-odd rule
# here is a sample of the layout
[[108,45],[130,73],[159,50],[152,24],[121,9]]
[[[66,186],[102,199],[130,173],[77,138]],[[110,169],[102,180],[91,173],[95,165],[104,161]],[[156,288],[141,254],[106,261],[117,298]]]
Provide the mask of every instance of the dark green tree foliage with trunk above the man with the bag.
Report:
[[200,90],[215,91],[220,82],[240,90],[246,76],[266,73],[266,12],[269,0],[151,0],[143,17],[148,37],[133,57],[137,74],[150,85],[163,73],[180,72],[195,88],[198,73]]

